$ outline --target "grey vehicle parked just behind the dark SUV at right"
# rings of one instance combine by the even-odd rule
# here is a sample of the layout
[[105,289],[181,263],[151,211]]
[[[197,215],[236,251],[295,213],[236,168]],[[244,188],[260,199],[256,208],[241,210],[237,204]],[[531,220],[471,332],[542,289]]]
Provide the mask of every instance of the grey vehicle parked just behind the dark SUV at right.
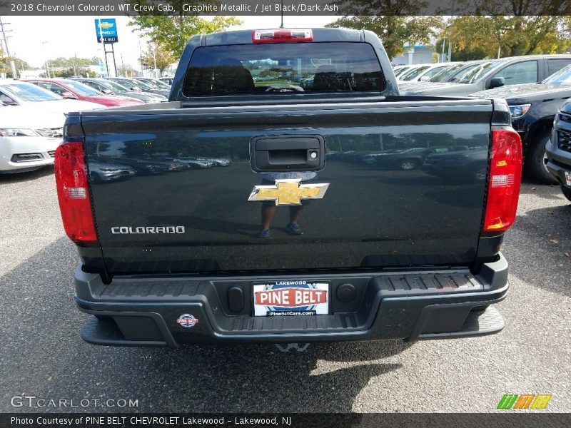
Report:
[[405,95],[468,96],[500,86],[537,83],[569,65],[571,55],[528,55],[485,61],[455,83],[428,83],[403,91]]

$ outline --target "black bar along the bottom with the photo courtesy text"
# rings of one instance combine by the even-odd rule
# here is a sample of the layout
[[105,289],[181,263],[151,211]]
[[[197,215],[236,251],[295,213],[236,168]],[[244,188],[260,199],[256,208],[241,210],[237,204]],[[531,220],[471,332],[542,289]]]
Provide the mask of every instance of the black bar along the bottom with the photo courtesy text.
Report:
[[293,413],[293,414],[94,414],[19,413],[0,414],[0,427],[26,428],[258,428],[258,427],[375,427],[375,428],[559,428],[571,426],[571,414],[542,410],[465,414],[370,414],[370,413]]

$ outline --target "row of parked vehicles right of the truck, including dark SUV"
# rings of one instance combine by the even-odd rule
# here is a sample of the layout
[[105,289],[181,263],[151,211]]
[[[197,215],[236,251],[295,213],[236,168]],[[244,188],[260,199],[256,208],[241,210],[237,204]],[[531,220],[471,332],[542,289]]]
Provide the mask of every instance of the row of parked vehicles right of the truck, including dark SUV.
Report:
[[571,55],[532,55],[394,68],[403,95],[503,98],[522,138],[524,171],[540,183],[559,183],[547,168],[553,121],[571,98]]

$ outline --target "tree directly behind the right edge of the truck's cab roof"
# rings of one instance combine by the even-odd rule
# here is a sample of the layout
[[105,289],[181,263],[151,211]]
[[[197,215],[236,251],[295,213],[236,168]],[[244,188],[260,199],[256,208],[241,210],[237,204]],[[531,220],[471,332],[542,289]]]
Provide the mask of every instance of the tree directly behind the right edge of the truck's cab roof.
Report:
[[383,42],[389,58],[405,51],[405,43],[430,43],[443,21],[439,16],[344,16],[328,27],[373,31]]

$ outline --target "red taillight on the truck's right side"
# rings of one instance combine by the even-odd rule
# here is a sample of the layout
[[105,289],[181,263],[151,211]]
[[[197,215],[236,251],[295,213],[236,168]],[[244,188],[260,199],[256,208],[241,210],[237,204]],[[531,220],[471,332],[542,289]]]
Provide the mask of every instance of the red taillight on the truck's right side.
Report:
[[522,180],[522,141],[512,129],[492,131],[490,182],[487,185],[485,232],[513,225]]

